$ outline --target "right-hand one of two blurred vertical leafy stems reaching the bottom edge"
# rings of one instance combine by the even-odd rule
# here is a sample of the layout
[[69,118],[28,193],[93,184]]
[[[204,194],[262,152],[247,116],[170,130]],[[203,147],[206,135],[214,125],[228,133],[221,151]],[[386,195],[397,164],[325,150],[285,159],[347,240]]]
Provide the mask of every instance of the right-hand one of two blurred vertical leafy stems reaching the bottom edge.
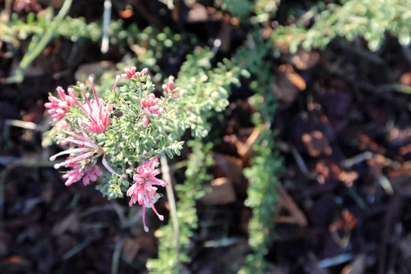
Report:
[[[245,64],[245,69],[256,76],[250,86],[256,92],[251,101],[258,108],[258,112],[253,114],[253,123],[260,130],[260,139],[253,147],[258,155],[251,160],[251,167],[244,170],[244,175],[250,182],[246,206],[253,210],[253,217],[249,222],[249,245],[254,252],[247,256],[240,273],[264,273],[269,266],[264,261],[264,255],[266,244],[272,238],[274,223],[271,216],[276,210],[282,158],[275,147],[275,133],[271,131],[277,103],[271,92],[271,65],[264,62],[269,47],[258,32],[249,36],[247,44],[248,47],[242,47],[238,52],[237,62]],[[251,55],[253,58],[247,58]]]

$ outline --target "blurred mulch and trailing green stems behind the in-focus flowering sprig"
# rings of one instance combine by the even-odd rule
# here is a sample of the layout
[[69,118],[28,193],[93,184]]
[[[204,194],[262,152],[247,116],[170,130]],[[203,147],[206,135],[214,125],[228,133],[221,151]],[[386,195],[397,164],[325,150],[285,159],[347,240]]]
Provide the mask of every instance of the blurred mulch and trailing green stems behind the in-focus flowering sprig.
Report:
[[[0,273],[411,273],[410,37],[409,0],[0,0]],[[49,92],[131,66],[229,91],[178,233],[49,161]]]

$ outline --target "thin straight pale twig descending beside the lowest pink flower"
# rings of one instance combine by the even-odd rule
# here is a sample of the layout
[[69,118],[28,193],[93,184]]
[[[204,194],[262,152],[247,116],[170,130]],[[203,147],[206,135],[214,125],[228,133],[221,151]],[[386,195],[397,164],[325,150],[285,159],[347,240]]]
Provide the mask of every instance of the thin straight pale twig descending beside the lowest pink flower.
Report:
[[173,185],[171,184],[171,175],[170,175],[170,168],[169,164],[167,163],[166,153],[162,153],[161,158],[161,172],[164,181],[168,184],[166,186],[167,198],[169,199],[170,203],[170,210],[171,210],[171,220],[173,221],[173,228],[174,228],[174,240],[175,240],[175,252],[177,253],[177,258],[179,254],[179,225],[177,219],[177,208],[175,206],[175,197],[173,192]]

